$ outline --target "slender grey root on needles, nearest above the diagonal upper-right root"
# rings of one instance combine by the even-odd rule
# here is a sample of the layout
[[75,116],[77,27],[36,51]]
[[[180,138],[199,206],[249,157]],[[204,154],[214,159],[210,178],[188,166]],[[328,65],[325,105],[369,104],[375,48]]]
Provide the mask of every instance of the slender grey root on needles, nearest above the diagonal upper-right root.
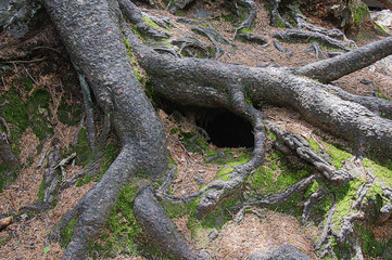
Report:
[[273,37],[277,38],[278,40],[284,41],[284,42],[306,43],[306,42],[311,42],[311,41],[318,41],[319,43],[323,43],[327,47],[344,50],[347,52],[351,51],[351,49],[347,47],[347,44],[344,44],[343,42],[341,42],[339,40],[336,40],[328,36],[321,35],[319,32],[312,32],[312,31],[298,30],[298,29],[288,29],[284,32],[276,32],[273,35]]

